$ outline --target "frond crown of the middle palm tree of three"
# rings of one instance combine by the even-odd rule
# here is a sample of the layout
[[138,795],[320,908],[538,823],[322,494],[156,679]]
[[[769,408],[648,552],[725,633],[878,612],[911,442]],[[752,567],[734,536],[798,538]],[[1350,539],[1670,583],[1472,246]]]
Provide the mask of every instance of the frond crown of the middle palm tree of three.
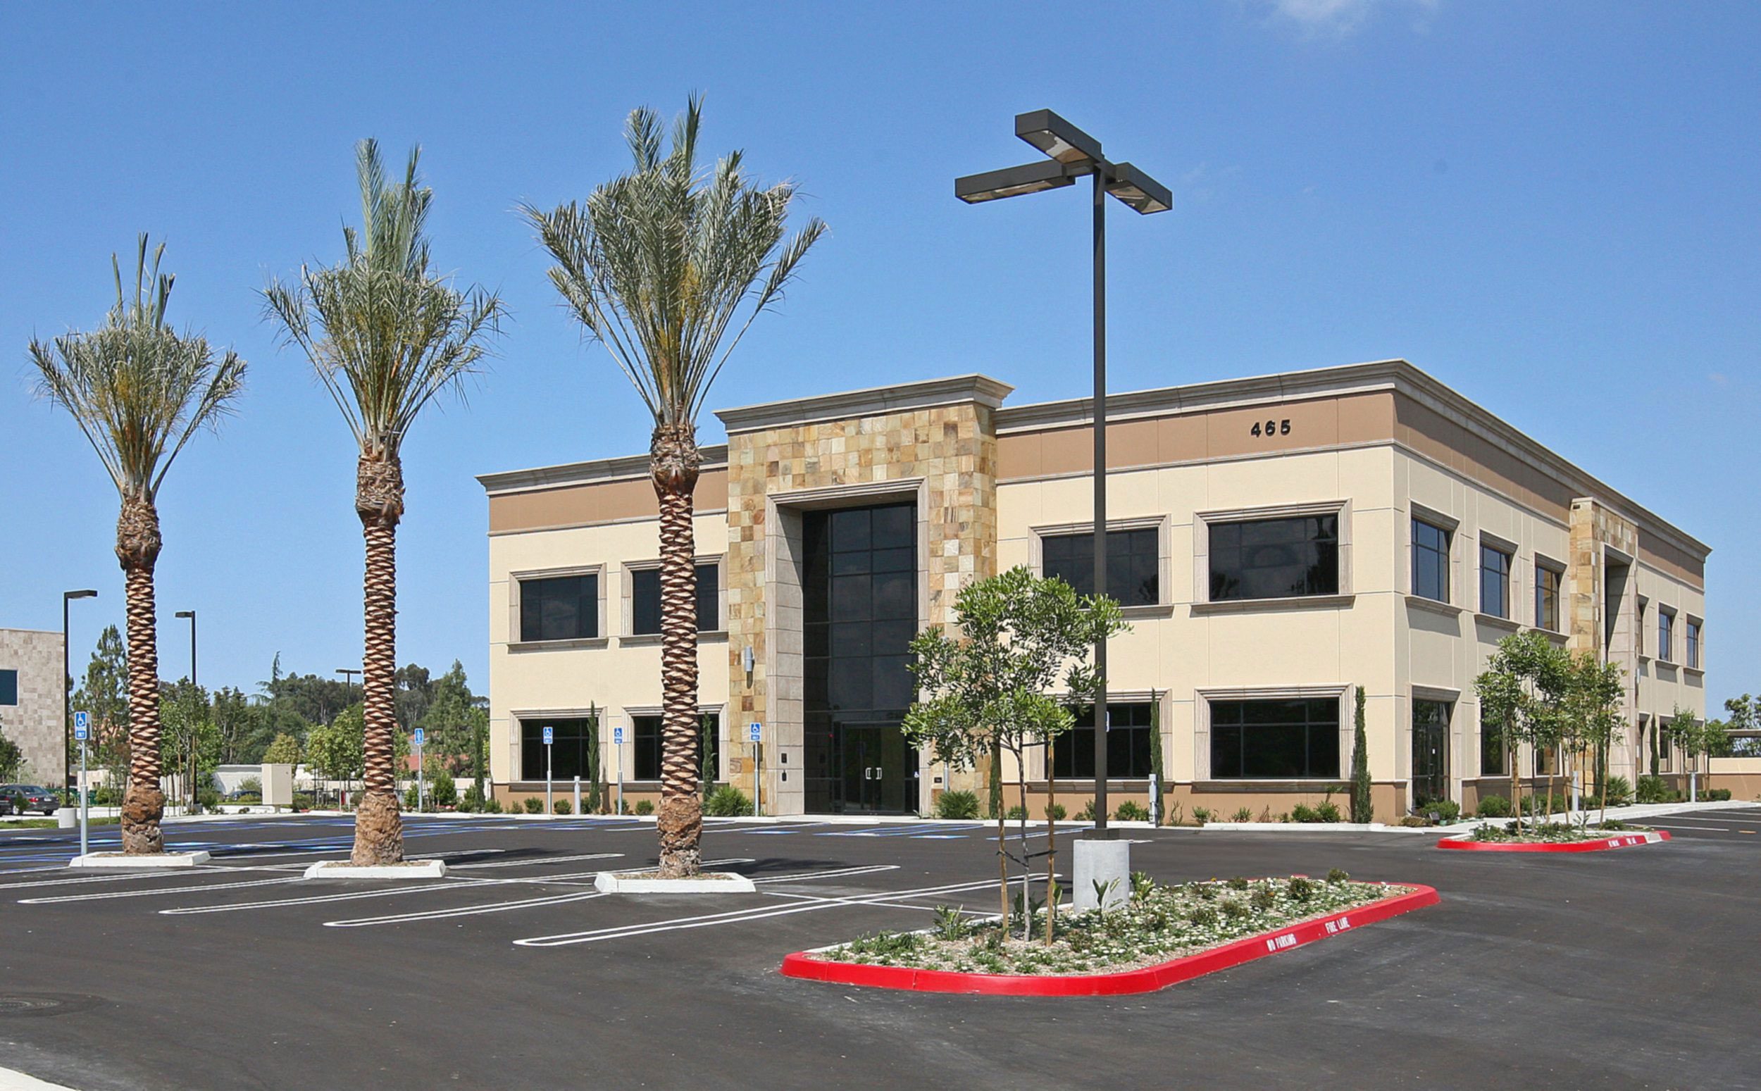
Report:
[[319,380],[365,452],[396,456],[421,410],[461,389],[500,333],[505,308],[481,287],[460,290],[431,269],[421,148],[387,181],[379,144],[356,146],[361,229],[343,229],[343,260],[301,266],[264,289],[264,311]]

